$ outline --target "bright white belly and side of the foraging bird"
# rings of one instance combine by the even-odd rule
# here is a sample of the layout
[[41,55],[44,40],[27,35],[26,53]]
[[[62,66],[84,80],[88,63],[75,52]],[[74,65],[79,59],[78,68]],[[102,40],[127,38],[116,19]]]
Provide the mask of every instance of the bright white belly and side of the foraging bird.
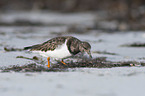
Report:
[[52,58],[65,58],[68,56],[71,56],[67,45],[66,45],[67,40],[65,41],[65,44],[58,46],[55,50],[53,51],[33,51],[35,53],[39,53],[41,56],[44,57],[52,57]]

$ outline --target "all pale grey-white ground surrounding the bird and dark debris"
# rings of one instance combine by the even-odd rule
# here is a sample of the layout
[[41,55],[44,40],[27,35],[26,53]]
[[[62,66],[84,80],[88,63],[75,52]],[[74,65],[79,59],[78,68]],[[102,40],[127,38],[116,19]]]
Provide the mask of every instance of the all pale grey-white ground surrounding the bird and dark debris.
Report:
[[[34,16],[33,16],[34,15]],[[30,17],[30,18],[29,18]],[[48,18],[49,17],[49,18]],[[34,20],[43,23],[84,24],[95,19],[92,14],[4,14],[0,20]],[[142,61],[145,48],[128,48],[120,45],[145,41],[144,32],[103,33],[92,31],[85,34],[67,33],[67,26],[1,26],[0,66],[23,65],[34,61],[16,58],[33,57],[24,51],[5,52],[4,47],[23,48],[42,43],[52,37],[71,35],[92,45],[93,57],[107,57],[111,61]],[[60,34],[61,33],[61,34]],[[100,42],[99,42],[100,41]],[[107,51],[118,55],[97,54]],[[0,96],[144,96],[145,68],[78,68],[69,72],[0,73]]]

